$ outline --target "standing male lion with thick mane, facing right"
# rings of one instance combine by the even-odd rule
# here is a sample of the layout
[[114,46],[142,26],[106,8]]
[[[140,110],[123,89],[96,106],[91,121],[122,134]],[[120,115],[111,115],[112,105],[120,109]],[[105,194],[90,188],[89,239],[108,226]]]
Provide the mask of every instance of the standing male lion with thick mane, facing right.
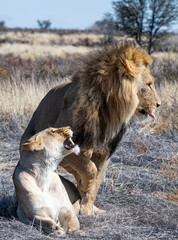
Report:
[[93,203],[109,158],[134,113],[155,117],[160,103],[151,63],[132,41],[90,54],[71,82],[48,92],[22,136],[21,144],[49,125],[73,128],[81,153],[65,157],[61,166],[77,180],[81,213],[102,212]]

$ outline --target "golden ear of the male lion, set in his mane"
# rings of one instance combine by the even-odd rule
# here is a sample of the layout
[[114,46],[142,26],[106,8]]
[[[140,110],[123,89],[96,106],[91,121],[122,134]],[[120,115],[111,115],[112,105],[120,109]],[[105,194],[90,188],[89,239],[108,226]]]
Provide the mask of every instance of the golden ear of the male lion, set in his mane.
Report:
[[135,66],[133,61],[123,59],[122,57],[118,57],[116,59],[116,65],[118,68],[122,68],[124,73],[127,73],[131,76],[136,76],[140,73],[141,68],[138,66]]

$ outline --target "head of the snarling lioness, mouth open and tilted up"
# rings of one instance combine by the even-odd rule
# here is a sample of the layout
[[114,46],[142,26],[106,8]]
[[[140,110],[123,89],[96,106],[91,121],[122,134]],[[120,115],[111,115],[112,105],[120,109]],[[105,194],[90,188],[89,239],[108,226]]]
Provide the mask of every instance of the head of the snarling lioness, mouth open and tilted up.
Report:
[[44,150],[49,157],[61,158],[70,153],[79,153],[78,145],[72,141],[73,132],[70,127],[47,128],[33,137],[22,148],[27,151]]

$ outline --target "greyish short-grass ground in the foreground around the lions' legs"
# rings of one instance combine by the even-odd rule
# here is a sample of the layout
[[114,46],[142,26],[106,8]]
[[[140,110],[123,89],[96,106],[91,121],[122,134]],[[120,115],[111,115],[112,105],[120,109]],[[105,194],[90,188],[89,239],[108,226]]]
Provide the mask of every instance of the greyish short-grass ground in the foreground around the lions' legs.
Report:
[[[96,206],[105,214],[79,216],[84,234],[46,236],[33,226],[4,217],[14,188],[21,132],[0,139],[0,239],[178,239],[178,132],[146,134],[132,123],[103,179]],[[71,176],[66,175],[69,179]]]

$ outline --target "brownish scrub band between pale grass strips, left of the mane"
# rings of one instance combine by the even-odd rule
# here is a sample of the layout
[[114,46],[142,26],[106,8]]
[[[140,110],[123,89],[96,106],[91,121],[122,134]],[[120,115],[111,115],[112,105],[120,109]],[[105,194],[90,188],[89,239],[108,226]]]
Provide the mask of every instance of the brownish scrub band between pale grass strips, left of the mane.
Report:
[[17,82],[21,79],[31,81],[32,78],[38,82],[56,81],[71,74],[73,60],[72,55],[67,56],[66,59],[49,55],[46,58],[40,57],[36,60],[14,57],[11,54],[0,55],[0,79],[7,79],[11,75],[14,78],[18,77]]

